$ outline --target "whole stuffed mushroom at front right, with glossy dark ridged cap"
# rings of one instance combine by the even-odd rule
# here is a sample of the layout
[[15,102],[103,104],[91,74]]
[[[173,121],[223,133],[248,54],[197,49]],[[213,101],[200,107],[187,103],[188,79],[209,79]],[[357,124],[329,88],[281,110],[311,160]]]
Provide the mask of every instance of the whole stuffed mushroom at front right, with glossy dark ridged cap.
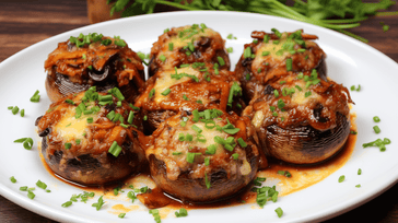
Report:
[[243,111],[267,155],[315,164],[337,154],[350,133],[350,93],[317,71],[280,77]]

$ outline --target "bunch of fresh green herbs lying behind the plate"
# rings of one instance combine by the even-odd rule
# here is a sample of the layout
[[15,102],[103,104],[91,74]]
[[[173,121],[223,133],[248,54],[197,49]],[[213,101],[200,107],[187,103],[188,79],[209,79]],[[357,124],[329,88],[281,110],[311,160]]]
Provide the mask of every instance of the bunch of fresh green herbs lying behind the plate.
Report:
[[[269,14],[297,20],[321,27],[331,28],[356,39],[367,43],[367,39],[354,35],[347,28],[356,27],[359,22],[367,20],[368,15],[378,10],[388,9],[395,4],[391,0],[381,0],[377,3],[365,3],[362,0],[294,0],[293,5],[286,5],[286,0],[107,0],[112,4],[110,15],[122,11],[121,16],[150,14],[156,4],[165,4],[183,10],[219,10],[241,11]],[[390,12],[389,14],[398,14]],[[341,19],[336,19],[341,17]]]

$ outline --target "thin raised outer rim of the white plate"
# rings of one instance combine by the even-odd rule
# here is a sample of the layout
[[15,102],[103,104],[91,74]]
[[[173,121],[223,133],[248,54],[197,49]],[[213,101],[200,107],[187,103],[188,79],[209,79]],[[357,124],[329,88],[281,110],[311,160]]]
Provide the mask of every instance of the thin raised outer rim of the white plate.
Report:
[[[264,15],[264,14],[258,14],[258,13],[248,13],[248,12],[226,12],[226,11],[177,11],[177,12],[161,12],[161,13],[155,13],[155,14],[144,14],[144,15],[136,15],[136,16],[131,16],[131,17],[124,17],[124,19],[118,19],[118,20],[112,20],[112,21],[106,21],[106,22],[102,22],[102,23],[96,23],[96,24],[90,24],[90,25],[85,25],[79,28],[74,28],[68,32],[63,32],[60,33],[58,35],[51,36],[49,38],[46,38],[44,40],[40,40],[32,46],[28,46],[20,51],[17,51],[16,54],[10,56],[9,58],[7,58],[5,60],[3,60],[0,63],[0,71],[3,69],[3,67],[7,67],[9,63],[12,63],[13,60],[15,60],[16,58],[19,58],[21,55],[27,54],[31,50],[37,50],[37,48],[39,48],[42,45],[45,45],[47,43],[54,42],[54,39],[60,38],[61,36],[66,36],[66,35],[70,35],[72,33],[79,33],[82,32],[83,30],[87,30],[87,28],[97,28],[101,26],[106,26],[106,25],[112,25],[112,24],[116,24],[116,23],[130,23],[131,21],[139,21],[139,20],[152,20],[152,19],[156,19],[156,17],[163,17],[163,16],[183,16],[183,15],[191,15],[191,14],[197,14],[197,15],[201,15],[201,14],[214,14],[214,15],[223,15],[223,14],[227,14],[227,15],[237,15],[237,16],[253,16],[255,19],[264,19],[265,20],[277,20],[279,22],[282,23],[290,23],[290,24],[296,24],[298,26],[311,26],[314,30],[320,30],[324,33],[327,33],[329,35],[333,35],[344,42],[348,42],[350,44],[356,45],[361,48],[364,48],[365,50],[368,50],[371,54],[377,56],[377,57],[382,57],[382,59],[385,62],[388,62],[390,66],[395,67],[398,70],[398,63],[396,61],[394,61],[391,58],[389,58],[388,56],[386,56],[385,54],[381,52],[379,50],[375,49],[374,47],[364,44],[358,39],[354,39],[350,36],[347,36],[344,34],[338,33],[336,31],[332,30],[328,30],[325,27],[320,27],[320,26],[316,26],[313,24],[308,24],[308,23],[304,23],[301,21],[295,21],[295,20],[290,20],[290,19],[285,19],[285,17],[278,17],[278,16],[272,16],[272,15]],[[99,30],[99,28],[98,28]],[[383,185],[379,187],[374,187],[371,191],[372,192],[367,192],[365,196],[362,197],[355,197],[354,199],[350,199],[347,202],[344,202],[344,206],[339,206],[339,208],[336,207],[329,207],[330,210],[335,210],[335,211],[329,211],[328,215],[323,215],[319,216],[319,214],[312,214],[312,215],[306,215],[304,218],[298,218],[298,221],[325,221],[327,219],[340,215],[342,213],[346,213],[354,208],[358,208],[360,206],[362,206],[365,202],[368,202],[370,200],[376,198],[377,196],[379,196],[381,193],[383,193],[384,191],[388,190],[389,188],[391,188],[395,184],[397,184],[398,181],[398,173],[395,175],[395,177],[390,177],[386,180],[388,183],[388,185]],[[5,187],[5,185],[3,185],[2,183],[0,183],[0,195],[3,196],[4,198],[7,198],[8,200],[25,208],[26,210],[33,211],[37,214],[44,215],[46,218],[56,220],[56,221],[73,221],[73,222],[84,222],[86,221],[86,219],[81,219],[81,218],[75,218],[73,215],[67,214],[66,212],[62,211],[58,211],[56,209],[52,209],[50,207],[46,207],[42,203],[37,203],[34,201],[28,201],[26,202],[26,199],[20,195],[14,192],[13,190],[9,189],[8,187]],[[283,220],[282,220],[283,221]]]

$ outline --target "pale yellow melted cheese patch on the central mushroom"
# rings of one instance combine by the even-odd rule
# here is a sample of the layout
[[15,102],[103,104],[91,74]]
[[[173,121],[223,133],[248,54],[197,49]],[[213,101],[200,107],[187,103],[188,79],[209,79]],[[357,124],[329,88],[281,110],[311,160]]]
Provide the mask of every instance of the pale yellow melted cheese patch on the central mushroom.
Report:
[[[161,103],[165,97],[168,96],[168,95],[166,95],[166,96],[162,95],[162,92],[164,92],[165,90],[172,87],[173,85],[191,81],[191,78],[188,78],[188,77],[183,77],[179,80],[172,79],[172,74],[175,74],[175,73],[176,73],[175,70],[167,70],[167,71],[163,71],[162,73],[160,73],[159,78],[156,79],[156,83],[153,87],[155,90],[154,101],[156,103]],[[179,69],[177,69],[177,73],[187,73],[189,75],[195,75],[197,78],[199,78],[201,74],[198,70],[195,70],[191,67],[179,68]],[[206,103],[206,102],[203,102],[203,103]]]

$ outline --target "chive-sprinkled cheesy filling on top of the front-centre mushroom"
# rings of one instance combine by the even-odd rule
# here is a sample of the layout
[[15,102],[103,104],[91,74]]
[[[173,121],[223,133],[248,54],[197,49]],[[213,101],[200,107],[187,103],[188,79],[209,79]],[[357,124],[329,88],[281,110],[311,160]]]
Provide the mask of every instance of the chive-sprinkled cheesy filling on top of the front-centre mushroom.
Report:
[[[177,180],[182,172],[189,172],[192,179],[207,179],[210,173],[220,168],[225,169],[229,177],[245,176],[251,167],[245,151],[248,146],[246,129],[244,125],[242,129],[238,127],[242,127],[239,120],[219,109],[194,110],[191,116],[177,115],[153,133],[153,144],[145,153],[148,157],[153,154],[165,163],[171,180]],[[258,155],[257,149],[253,150]]]

